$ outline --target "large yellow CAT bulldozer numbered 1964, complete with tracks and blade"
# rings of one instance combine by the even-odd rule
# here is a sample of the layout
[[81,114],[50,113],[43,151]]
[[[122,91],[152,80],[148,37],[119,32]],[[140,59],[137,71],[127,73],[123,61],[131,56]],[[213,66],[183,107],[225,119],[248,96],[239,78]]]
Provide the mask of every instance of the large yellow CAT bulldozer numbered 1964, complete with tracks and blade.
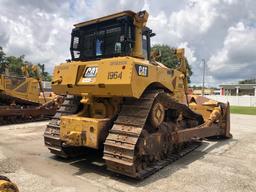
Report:
[[65,100],[44,133],[61,157],[103,150],[107,169],[145,178],[206,137],[230,138],[229,104],[187,95],[184,49],[177,68],[151,53],[148,13],[124,11],[74,25],[72,60],[55,67]]

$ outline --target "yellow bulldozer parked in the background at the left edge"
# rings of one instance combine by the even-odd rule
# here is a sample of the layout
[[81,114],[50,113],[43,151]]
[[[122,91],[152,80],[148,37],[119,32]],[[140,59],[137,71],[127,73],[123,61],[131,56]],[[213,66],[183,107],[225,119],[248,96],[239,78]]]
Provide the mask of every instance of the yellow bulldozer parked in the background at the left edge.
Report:
[[59,106],[58,96],[45,95],[37,67],[32,67],[36,78],[29,76],[28,66],[22,71],[24,77],[0,74],[0,125],[49,118]]

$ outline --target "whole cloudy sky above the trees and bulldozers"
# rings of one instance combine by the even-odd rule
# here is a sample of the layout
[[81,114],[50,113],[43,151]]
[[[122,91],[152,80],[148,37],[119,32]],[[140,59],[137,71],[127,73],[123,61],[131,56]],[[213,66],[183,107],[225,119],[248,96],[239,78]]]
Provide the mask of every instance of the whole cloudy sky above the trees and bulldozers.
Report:
[[255,0],[0,0],[0,46],[7,55],[55,65],[70,58],[73,24],[123,10],[147,10],[153,44],[184,47],[193,85],[256,77]]

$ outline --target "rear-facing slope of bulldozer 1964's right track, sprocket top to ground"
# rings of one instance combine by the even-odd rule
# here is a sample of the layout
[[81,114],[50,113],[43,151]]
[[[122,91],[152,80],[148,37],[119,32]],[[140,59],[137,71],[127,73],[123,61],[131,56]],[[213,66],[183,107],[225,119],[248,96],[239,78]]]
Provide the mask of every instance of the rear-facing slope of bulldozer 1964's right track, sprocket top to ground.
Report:
[[104,143],[107,168],[130,177],[136,173],[136,144],[158,91],[147,92],[139,100],[127,100],[122,105]]

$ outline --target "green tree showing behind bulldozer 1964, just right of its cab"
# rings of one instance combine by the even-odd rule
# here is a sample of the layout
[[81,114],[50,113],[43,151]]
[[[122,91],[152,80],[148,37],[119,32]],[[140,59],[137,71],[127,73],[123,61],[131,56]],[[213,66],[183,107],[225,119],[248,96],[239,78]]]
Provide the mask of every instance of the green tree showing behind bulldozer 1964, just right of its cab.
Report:
[[[152,51],[158,50],[161,52],[161,57],[156,60],[160,63],[163,63],[165,66],[169,68],[176,68],[179,65],[179,60],[176,54],[173,52],[173,48],[168,45],[156,44],[152,47]],[[186,59],[186,63],[188,66],[188,82],[190,82],[190,77],[193,74],[191,66],[188,64],[188,60]]]

